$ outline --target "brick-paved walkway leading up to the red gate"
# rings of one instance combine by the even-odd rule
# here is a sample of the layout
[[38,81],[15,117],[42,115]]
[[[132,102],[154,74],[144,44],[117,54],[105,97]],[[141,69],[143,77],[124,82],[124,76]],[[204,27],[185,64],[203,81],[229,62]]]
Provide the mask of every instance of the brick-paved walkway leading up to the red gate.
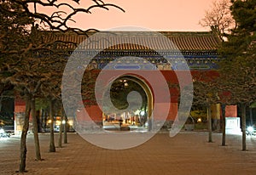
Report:
[[[214,142],[207,143],[207,133],[179,133],[174,138],[168,133],[159,133],[136,148],[106,150],[89,144],[78,134],[69,133],[69,143],[49,153],[49,134],[41,134],[44,161],[34,161],[33,138],[29,135],[28,172],[24,174],[256,174],[256,137],[247,138],[248,151],[241,151],[241,136],[228,135],[228,146],[224,147],[220,146],[221,134],[213,133],[212,138]],[[18,137],[0,140],[1,175],[23,174],[15,172],[19,167],[19,148]]]

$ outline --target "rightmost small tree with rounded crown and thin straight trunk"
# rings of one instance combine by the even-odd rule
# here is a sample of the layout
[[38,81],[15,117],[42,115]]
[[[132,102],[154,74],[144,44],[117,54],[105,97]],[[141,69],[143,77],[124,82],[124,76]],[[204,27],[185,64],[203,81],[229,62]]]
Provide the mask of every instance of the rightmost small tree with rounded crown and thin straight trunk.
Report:
[[220,86],[230,95],[226,97],[228,103],[240,104],[241,107],[242,150],[246,150],[246,107],[256,99],[253,88],[256,85],[255,59],[255,55],[237,57],[220,71]]

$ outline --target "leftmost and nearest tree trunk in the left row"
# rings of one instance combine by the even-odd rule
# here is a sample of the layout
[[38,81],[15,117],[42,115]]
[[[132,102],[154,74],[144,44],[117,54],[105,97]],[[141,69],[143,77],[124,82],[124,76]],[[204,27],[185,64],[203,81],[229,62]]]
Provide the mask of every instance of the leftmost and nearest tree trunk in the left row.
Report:
[[29,115],[31,111],[31,103],[26,99],[26,110],[24,116],[24,123],[20,138],[20,169],[19,172],[26,172],[26,134],[29,127]]

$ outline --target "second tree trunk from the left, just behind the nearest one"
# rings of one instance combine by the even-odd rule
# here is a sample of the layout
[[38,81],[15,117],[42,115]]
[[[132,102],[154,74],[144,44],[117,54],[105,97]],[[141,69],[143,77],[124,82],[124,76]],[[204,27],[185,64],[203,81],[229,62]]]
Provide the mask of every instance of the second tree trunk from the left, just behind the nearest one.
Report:
[[32,124],[33,124],[35,151],[36,151],[35,152],[36,161],[41,161],[40,144],[39,144],[39,138],[38,138],[38,118],[36,115],[36,101],[35,101],[35,98],[33,97],[31,100],[31,111],[32,111]]

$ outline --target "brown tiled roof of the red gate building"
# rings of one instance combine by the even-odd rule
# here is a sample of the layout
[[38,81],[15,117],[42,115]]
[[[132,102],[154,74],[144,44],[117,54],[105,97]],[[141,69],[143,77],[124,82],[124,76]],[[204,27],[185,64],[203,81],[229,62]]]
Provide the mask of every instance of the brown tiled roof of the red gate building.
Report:
[[[220,40],[212,32],[180,32],[180,31],[160,31],[159,33],[169,38],[172,42],[167,42],[163,37],[159,37],[160,34],[155,35],[157,32],[151,31],[104,31],[103,37],[94,37],[93,32],[89,33],[91,41],[94,42],[90,45],[80,44],[82,49],[97,49],[97,50],[114,50],[114,51],[141,51],[148,50],[146,46],[152,46],[158,50],[170,50],[179,49],[180,51],[216,51]],[[46,35],[46,41],[65,41],[79,43],[86,40],[88,37],[85,35],[77,35],[74,33],[51,33]],[[120,43],[121,44],[116,44]],[[141,43],[137,45],[135,43]],[[172,44],[173,43],[173,44]],[[107,47],[107,45],[113,45]],[[74,44],[67,44],[65,46],[59,46],[60,49],[74,50],[76,46]]]

